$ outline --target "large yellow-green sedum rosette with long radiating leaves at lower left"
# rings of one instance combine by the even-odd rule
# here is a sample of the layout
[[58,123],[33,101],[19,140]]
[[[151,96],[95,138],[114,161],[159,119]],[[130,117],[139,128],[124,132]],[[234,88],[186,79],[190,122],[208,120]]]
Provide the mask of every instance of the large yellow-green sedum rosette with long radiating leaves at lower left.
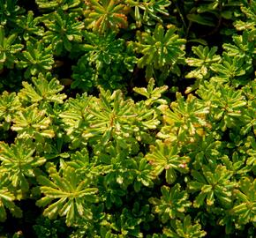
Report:
[[56,218],[58,214],[65,216],[68,226],[71,226],[78,216],[91,219],[89,204],[97,201],[97,189],[90,187],[92,182],[76,175],[72,167],[64,167],[57,172],[54,165],[49,165],[48,171],[51,180],[45,176],[38,177],[41,192],[45,197],[37,201],[37,205],[50,204],[43,214],[49,219]]

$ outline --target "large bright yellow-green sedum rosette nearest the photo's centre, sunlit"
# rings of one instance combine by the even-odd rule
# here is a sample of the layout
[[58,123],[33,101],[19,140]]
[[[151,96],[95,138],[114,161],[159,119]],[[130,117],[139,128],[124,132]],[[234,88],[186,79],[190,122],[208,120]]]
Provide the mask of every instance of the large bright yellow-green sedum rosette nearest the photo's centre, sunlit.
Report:
[[112,138],[120,140],[120,143],[125,138],[129,139],[129,134],[137,130],[132,123],[136,119],[132,104],[132,100],[123,100],[120,91],[112,95],[102,91],[100,99],[88,109],[91,118],[83,137],[100,140],[101,145],[107,144]]

